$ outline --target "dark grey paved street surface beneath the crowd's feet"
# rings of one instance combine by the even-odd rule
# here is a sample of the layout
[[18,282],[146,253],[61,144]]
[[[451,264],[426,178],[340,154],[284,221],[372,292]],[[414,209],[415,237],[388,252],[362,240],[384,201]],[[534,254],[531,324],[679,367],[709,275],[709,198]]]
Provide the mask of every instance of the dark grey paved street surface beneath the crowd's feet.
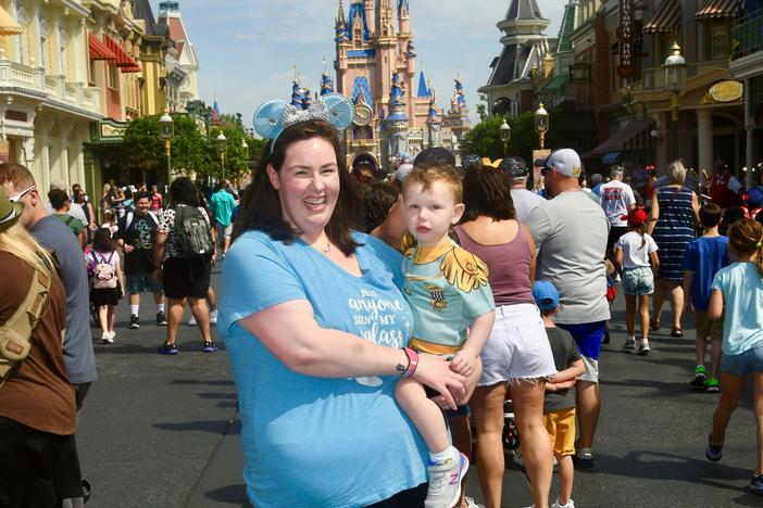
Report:
[[[157,355],[164,329],[153,325],[150,296],[142,300],[139,330],[126,329],[123,302],[115,343],[96,345],[100,380],[78,433],[83,470],[93,485],[88,506],[248,506],[235,388],[222,344],[220,353],[201,353],[198,330],[184,325],[180,354]],[[625,354],[623,306],[621,296],[612,344],[601,358],[604,406],[596,466],[576,471],[576,506],[763,506],[746,488],[754,465],[749,393],[731,420],[723,460],[709,462],[704,444],[717,396],[689,390],[693,332],[678,340],[663,330],[653,336],[650,356]],[[668,315],[663,321],[670,322]],[[479,503],[476,474],[470,473],[467,494]],[[530,504],[520,471],[506,470],[503,498],[505,507]]]

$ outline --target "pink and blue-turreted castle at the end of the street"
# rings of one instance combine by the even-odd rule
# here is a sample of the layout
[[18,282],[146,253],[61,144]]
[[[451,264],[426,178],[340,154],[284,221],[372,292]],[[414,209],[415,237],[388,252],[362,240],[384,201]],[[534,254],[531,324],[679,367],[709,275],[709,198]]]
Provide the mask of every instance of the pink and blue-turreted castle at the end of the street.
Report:
[[[339,0],[335,34],[336,87],[324,69],[320,94],[336,91],[354,103],[346,132],[348,166],[389,170],[393,155],[415,156],[429,147],[452,150],[458,162],[471,128],[463,85],[456,77],[450,109],[438,107],[434,88],[416,73],[410,0],[351,0],[349,12]],[[304,109],[312,103],[297,78],[291,103]]]

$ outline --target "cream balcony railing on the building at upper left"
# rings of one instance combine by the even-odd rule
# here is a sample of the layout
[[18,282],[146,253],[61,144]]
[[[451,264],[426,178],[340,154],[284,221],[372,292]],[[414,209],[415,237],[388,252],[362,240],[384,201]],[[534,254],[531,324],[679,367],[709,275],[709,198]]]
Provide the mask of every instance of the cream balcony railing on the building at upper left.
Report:
[[98,88],[66,81],[66,76],[45,74],[41,67],[29,67],[3,58],[0,58],[0,88],[28,90],[51,101],[100,113]]

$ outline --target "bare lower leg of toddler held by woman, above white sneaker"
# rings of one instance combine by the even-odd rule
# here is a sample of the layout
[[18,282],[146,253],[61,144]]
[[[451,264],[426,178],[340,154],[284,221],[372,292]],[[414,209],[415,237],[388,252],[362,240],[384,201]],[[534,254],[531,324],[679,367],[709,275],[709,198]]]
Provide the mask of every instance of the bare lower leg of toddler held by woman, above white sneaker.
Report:
[[422,434],[429,453],[439,454],[450,447],[442,410],[426,396],[422,384],[401,379],[395,386],[395,398]]

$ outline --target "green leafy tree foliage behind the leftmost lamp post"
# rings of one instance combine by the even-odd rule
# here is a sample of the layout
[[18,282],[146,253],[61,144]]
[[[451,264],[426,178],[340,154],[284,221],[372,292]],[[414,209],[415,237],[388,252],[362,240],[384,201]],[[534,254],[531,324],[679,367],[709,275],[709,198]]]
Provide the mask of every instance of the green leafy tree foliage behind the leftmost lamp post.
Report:
[[[123,150],[128,164],[143,173],[154,173],[159,179],[166,175],[164,140],[160,136],[159,115],[135,118],[127,126]],[[172,173],[188,175],[205,173],[211,161],[205,140],[193,119],[187,115],[172,116],[174,137],[172,139]]]

